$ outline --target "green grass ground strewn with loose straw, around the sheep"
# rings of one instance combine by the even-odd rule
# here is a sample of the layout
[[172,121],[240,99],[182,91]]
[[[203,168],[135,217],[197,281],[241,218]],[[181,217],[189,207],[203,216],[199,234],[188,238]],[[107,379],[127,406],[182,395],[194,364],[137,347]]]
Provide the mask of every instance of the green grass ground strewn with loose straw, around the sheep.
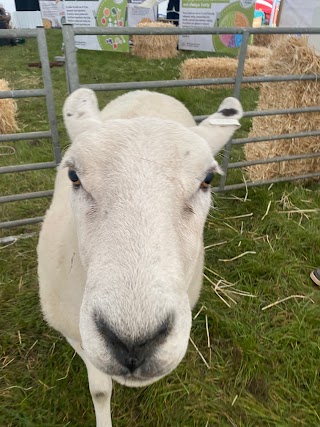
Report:
[[[61,33],[48,32],[50,60]],[[36,44],[2,47],[0,77],[12,88],[40,87]],[[80,51],[82,82],[178,78],[179,64],[127,54]],[[206,55],[205,55],[206,56]],[[65,70],[52,69],[62,147]],[[165,90],[192,113],[208,114],[226,90]],[[101,105],[118,93],[100,93]],[[257,92],[243,90],[246,110]],[[18,101],[21,131],[47,129],[43,100]],[[243,120],[239,136],[246,136]],[[50,141],[21,141],[0,165],[52,160]],[[234,158],[241,157],[240,150]],[[240,175],[241,176],[241,175]],[[239,172],[234,176],[239,177]],[[0,176],[0,193],[52,188],[54,171]],[[233,176],[231,176],[231,180]],[[48,200],[0,206],[0,220],[42,215]],[[115,427],[291,427],[320,425],[320,289],[309,279],[320,265],[318,183],[278,184],[214,195],[205,230],[206,267],[187,355],[168,377],[144,389],[114,385]],[[18,230],[37,231],[38,227]],[[2,232],[2,235],[13,231]],[[85,367],[44,323],[38,302],[37,238],[0,246],[0,426],[93,426]],[[227,286],[227,287],[226,287]],[[201,356],[200,354],[201,353]]]

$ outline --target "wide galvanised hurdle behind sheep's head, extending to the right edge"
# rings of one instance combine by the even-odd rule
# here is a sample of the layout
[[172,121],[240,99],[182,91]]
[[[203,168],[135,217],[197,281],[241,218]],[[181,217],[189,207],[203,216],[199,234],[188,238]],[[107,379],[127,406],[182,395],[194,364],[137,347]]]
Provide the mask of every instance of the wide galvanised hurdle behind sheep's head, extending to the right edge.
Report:
[[[123,83],[99,83],[99,84],[81,84],[79,81],[79,71],[76,58],[75,36],[76,35],[185,35],[185,34],[242,34],[242,43],[239,52],[239,62],[235,78],[213,78],[213,79],[190,79],[190,80],[161,80],[161,81],[144,81],[144,82],[123,82]],[[320,74],[317,75],[283,75],[283,76],[257,76],[244,77],[243,71],[246,61],[246,52],[252,34],[320,34],[320,28],[74,28],[71,25],[63,27],[63,37],[65,43],[65,55],[67,66],[67,80],[70,92],[86,87],[95,91],[115,91],[115,90],[133,90],[133,89],[156,89],[171,87],[188,87],[188,86],[212,86],[233,84],[233,96],[240,97],[241,85],[244,83],[264,83],[264,82],[290,82],[290,81],[316,81]],[[320,70],[319,70],[320,73]],[[280,114],[297,114],[320,112],[320,105],[316,107],[288,108],[279,110],[263,110],[245,112],[244,117],[271,116]],[[207,116],[196,116],[195,120],[200,122]],[[307,179],[320,176],[320,171],[304,175],[279,177],[256,182],[241,182],[239,184],[227,185],[228,171],[231,169],[241,169],[251,165],[281,162],[285,160],[297,160],[319,157],[320,151],[311,154],[288,155],[273,157],[269,159],[230,162],[230,155],[233,146],[246,143],[274,141],[289,138],[304,138],[310,136],[319,136],[320,129],[309,132],[299,132],[284,135],[270,135],[260,138],[238,138],[230,140],[225,148],[222,161],[224,175],[220,178],[219,186],[213,188],[215,192],[228,190],[237,190],[241,188],[253,187],[262,184],[271,184],[283,181],[292,181],[298,179]]]

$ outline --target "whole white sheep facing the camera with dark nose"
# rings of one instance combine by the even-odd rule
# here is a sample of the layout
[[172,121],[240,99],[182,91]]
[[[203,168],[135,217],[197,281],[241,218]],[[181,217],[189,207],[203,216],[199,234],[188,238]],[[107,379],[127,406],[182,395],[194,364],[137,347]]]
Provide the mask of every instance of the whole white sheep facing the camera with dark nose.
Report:
[[144,386],[186,352],[203,271],[213,154],[239,127],[227,98],[199,126],[183,104],[137,91],[99,111],[79,89],[64,105],[72,144],[38,244],[43,314],[81,356],[97,427],[112,379]]

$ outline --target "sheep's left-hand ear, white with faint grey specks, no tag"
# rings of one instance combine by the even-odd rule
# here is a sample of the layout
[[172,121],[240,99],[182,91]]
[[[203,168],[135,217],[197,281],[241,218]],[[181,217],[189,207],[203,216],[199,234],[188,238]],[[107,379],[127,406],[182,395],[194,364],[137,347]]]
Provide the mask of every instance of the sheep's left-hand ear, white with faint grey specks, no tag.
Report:
[[71,140],[101,123],[96,94],[91,89],[77,89],[66,99],[63,119]]

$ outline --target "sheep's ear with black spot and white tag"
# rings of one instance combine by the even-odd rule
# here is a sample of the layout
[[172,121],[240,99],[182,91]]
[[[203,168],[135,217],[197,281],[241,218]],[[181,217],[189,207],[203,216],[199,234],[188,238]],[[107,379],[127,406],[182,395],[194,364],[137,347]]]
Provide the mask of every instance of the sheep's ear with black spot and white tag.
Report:
[[192,130],[208,141],[214,155],[239,129],[241,126],[239,119],[242,115],[240,102],[236,98],[226,98],[216,113],[206,118],[199,126],[193,127]]

